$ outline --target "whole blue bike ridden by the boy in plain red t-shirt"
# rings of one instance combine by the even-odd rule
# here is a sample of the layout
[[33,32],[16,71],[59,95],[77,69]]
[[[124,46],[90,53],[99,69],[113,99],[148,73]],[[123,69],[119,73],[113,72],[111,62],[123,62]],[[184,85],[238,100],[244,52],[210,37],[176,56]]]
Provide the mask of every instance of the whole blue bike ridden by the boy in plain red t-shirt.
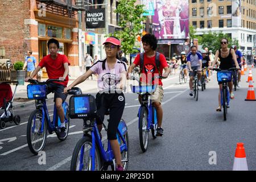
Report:
[[60,118],[57,116],[57,109],[54,105],[53,119],[51,121],[48,113],[46,99],[47,99],[47,84],[53,81],[60,81],[59,79],[49,79],[44,82],[37,80],[28,80],[31,84],[27,85],[27,97],[28,99],[35,100],[36,109],[32,111],[27,123],[27,144],[30,151],[38,155],[46,145],[47,130],[49,134],[56,133],[59,140],[64,141],[68,137],[69,131],[69,110],[67,102],[63,102],[63,109],[65,114],[65,127],[67,133],[64,138],[59,137],[60,133]]

